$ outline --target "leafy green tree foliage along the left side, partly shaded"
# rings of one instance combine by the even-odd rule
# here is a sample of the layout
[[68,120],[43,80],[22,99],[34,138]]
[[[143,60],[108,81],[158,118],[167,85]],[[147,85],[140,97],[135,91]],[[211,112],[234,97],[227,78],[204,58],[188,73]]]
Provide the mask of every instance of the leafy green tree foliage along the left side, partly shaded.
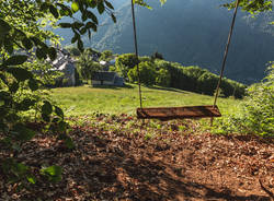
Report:
[[[78,49],[83,51],[81,35],[88,33],[90,36],[91,31],[98,28],[94,10],[100,14],[107,12],[116,21],[114,8],[106,0],[65,2],[71,1],[0,1],[0,147],[11,156],[1,161],[1,169],[12,182],[35,184],[36,180],[28,172],[30,167],[18,162],[24,144],[36,134],[25,122],[23,114],[34,115],[35,120],[41,114],[41,120],[48,125],[47,131],[57,133],[68,147],[73,147],[61,108],[42,96],[47,79],[53,78],[48,73],[50,67],[45,71],[44,67],[48,66],[45,62],[56,59],[55,45],[58,44],[58,36],[45,26],[56,26],[59,19],[73,17],[80,12],[81,21],[59,23],[58,26],[70,28],[75,34],[71,43],[77,43]],[[50,181],[58,181],[61,168],[54,165],[43,168],[41,174]]]

